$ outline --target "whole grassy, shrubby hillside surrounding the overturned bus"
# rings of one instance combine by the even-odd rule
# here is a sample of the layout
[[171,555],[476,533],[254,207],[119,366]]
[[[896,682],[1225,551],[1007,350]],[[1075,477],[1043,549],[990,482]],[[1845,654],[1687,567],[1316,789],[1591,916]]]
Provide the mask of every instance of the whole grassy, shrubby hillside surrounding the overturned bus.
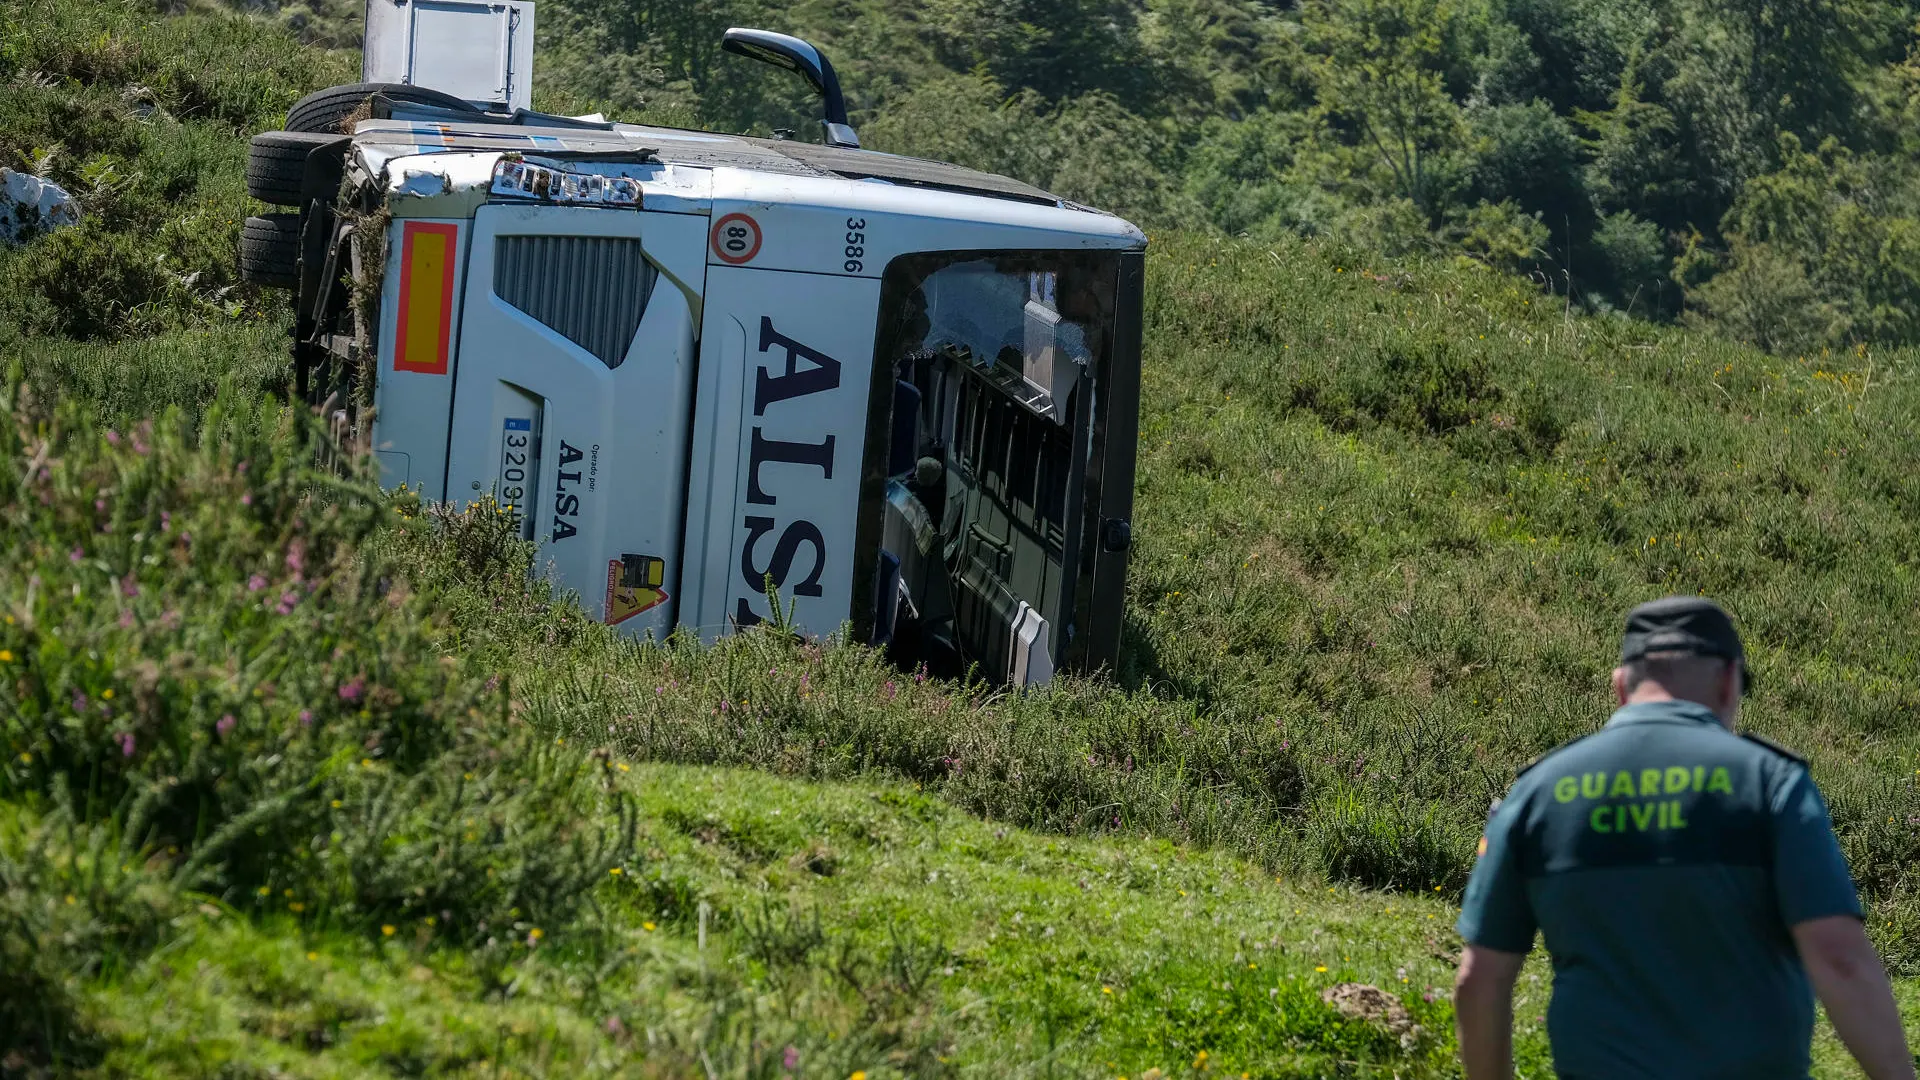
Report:
[[[1452,1074],[1486,801],[1603,717],[1619,613],[1693,590],[1920,1019],[1914,352],[1156,231],[1112,682],[636,648],[486,515],[317,479],[271,404],[244,135],[342,56],[23,13],[0,163],[88,221],[0,250],[0,1072]],[[1348,978],[1425,1038],[1342,1020]]]

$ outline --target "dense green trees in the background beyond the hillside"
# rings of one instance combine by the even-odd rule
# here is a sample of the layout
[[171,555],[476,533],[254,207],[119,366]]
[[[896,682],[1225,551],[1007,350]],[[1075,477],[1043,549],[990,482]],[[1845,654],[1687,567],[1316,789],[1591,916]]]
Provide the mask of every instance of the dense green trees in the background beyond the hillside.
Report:
[[[319,8],[321,13],[315,13]],[[353,40],[357,6],[294,19]],[[1784,356],[1920,342],[1920,10],[1878,0],[551,0],[540,86],[816,138],[822,42],[870,146],[1154,227],[1457,252]]]

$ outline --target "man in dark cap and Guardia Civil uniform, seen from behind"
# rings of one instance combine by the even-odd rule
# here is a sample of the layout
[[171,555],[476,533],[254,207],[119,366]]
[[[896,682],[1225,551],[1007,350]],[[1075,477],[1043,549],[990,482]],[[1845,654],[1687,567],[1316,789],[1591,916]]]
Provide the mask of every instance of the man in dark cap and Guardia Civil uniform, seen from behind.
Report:
[[1469,1080],[1513,1074],[1513,984],[1536,930],[1567,1080],[1805,1080],[1814,994],[1872,1080],[1912,1080],[1807,763],[1732,730],[1749,684],[1716,603],[1626,617],[1620,709],[1524,769],[1486,824],[1459,915]]

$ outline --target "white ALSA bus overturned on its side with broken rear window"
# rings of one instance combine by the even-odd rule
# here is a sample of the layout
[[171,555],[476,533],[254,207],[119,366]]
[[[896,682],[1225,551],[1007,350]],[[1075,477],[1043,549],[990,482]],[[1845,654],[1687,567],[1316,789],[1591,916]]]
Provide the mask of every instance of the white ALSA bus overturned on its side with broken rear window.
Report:
[[296,294],[301,394],[388,482],[511,507],[626,632],[758,623],[770,582],[941,673],[1112,665],[1140,231],[860,150],[797,38],[726,44],[812,81],[822,144],[528,111],[530,35],[532,4],[371,0],[384,81],[255,138],[290,211],[240,265]]

